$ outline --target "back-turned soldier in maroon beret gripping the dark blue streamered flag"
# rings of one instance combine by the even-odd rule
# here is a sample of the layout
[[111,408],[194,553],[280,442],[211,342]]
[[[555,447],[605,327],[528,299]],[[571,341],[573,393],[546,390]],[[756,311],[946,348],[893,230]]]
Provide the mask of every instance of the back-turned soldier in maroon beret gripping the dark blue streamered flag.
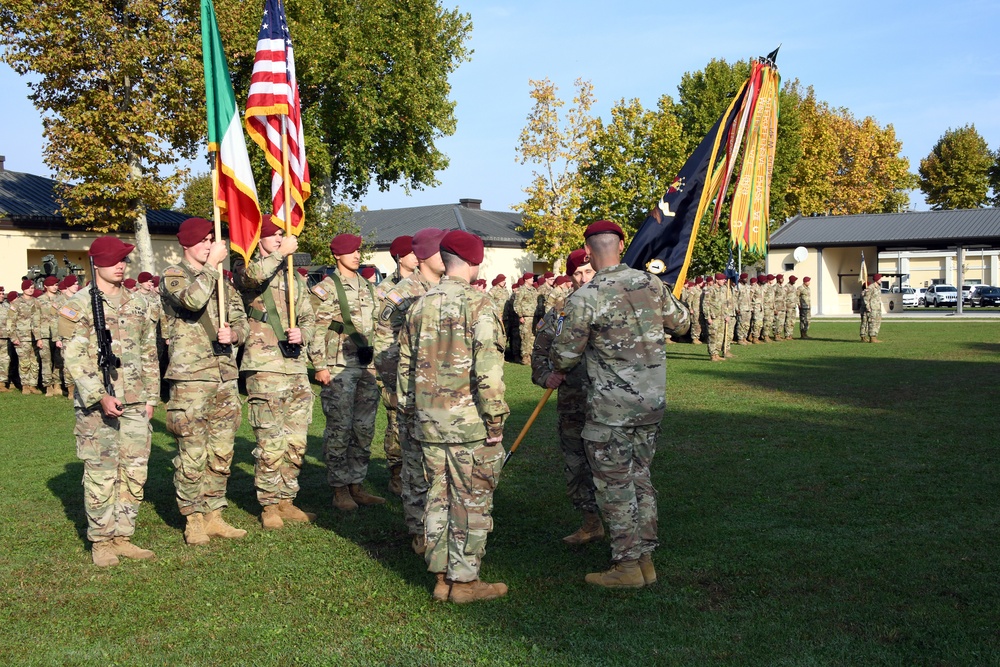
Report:
[[[683,335],[684,306],[655,275],[621,264],[624,234],[602,220],[584,232],[597,273],[566,303],[552,344],[555,378],[585,357],[589,392],[582,437],[594,473],[597,504],[611,533],[612,566],[586,581],[638,588],[656,581],[656,490],[650,465],[666,409],[665,331]],[[651,326],[662,323],[662,326]]]

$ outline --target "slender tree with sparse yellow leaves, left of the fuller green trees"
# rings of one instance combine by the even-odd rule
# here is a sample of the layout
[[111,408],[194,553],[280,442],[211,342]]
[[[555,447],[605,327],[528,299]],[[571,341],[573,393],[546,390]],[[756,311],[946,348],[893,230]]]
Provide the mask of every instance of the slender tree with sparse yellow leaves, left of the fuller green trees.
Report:
[[521,228],[533,233],[528,250],[558,264],[583,243],[579,170],[590,161],[596,127],[590,115],[593,86],[577,79],[573,106],[560,119],[559,110],[566,103],[558,97],[555,84],[548,79],[529,83],[535,104],[521,130],[517,156],[521,164],[535,167],[531,184],[524,189],[528,197],[514,209],[521,213]]

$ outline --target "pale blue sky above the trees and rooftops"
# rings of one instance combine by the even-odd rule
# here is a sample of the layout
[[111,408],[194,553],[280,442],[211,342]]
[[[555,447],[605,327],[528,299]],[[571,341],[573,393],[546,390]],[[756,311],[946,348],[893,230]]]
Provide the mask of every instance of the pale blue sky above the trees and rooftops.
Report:
[[[991,149],[1000,147],[995,1],[466,0],[458,6],[472,15],[474,53],[451,78],[458,129],[438,143],[451,165],[438,174],[437,187],[409,196],[401,188],[369,193],[361,201],[369,208],[473,197],[483,208],[505,210],[522,200],[531,170],[516,162],[515,148],[531,106],[529,79],[550,78],[567,99],[576,78],[590,79],[594,112],[607,118],[622,98],[638,97],[646,107],[664,93],[676,99],[681,75],[712,58],[732,62],[778,44],[783,80],[797,78],[833,106],[891,123],[913,172],[949,128],[973,123]],[[48,175],[27,86],[6,65],[0,86],[7,168]],[[919,191],[911,203],[926,208]]]

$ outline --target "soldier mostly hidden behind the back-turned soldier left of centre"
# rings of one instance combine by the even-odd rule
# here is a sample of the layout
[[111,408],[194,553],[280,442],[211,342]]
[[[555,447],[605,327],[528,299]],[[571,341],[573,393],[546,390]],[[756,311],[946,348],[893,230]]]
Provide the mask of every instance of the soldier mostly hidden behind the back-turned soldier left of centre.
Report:
[[[393,390],[398,383],[399,332],[405,324],[410,306],[441,282],[444,264],[441,260],[443,229],[422,229],[413,235],[413,253],[417,257],[417,270],[397,283],[379,304],[378,324],[375,326],[375,366],[384,373],[392,373]],[[413,378],[410,378],[413,382]],[[397,397],[393,396],[393,403]],[[424,455],[420,442],[411,435],[413,413],[400,410],[397,418],[399,444],[403,451],[401,471],[401,496],[406,529],[412,535],[411,546],[418,554],[426,548],[424,538],[424,504],[427,497],[427,479],[424,477]]]

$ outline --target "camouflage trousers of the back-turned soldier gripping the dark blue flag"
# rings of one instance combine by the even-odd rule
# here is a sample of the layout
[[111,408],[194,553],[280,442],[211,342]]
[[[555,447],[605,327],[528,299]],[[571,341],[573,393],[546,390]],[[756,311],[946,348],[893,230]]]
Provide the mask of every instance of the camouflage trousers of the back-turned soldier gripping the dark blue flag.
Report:
[[637,560],[658,545],[656,490],[649,466],[659,429],[658,424],[629,428],[592,421],[583,428],[597,505],[611,533],[614,562]]

